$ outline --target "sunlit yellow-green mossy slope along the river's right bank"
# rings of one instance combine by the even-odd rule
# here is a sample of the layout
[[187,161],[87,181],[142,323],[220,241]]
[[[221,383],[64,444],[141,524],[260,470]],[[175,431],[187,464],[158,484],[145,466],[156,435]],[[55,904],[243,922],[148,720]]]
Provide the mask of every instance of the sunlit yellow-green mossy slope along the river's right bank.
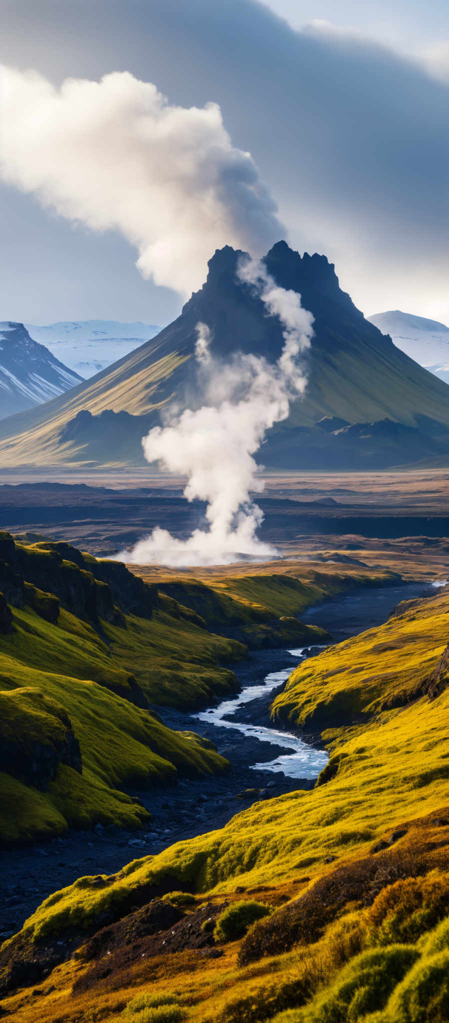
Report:
[[[396,637],[403,630],[398,672],[390,666],[388,685],[394,695],[403,692],[404,664],[409,658],[416,668],[409,677],[410,692],[441,657],[445,647],[449,596],[442,594],[422,603],[410,623],[407,614],[396,617]],[[380,627],[381,633],[387,626]],[[342,678],[352,669],[372,632],[364,633],[340,651]],[[417,651],[420,656],[417,657]],[[333,652],[336,657],[336,650]],[[320,655],[315,659],[317,666]],[[315,670],[319,677],[320,670]],[[379,698],[387,699],[387,680],[381,676]],[[120,914],[130,893],[156,884],[170,875],[179,887],[190,891],[232,892],[257,885],[290,884],[303,876],[313,878],[328,870],[326,861],[344,861],[366,854],[377,842],[388,845],[404,821],[440,812],[449,803],[449,766],[446,756],[449,690],[431,700],[422,695],[404,706],[376,710],[365,722],[326,735],[338,769],[326,784],[314,791],[297,791],[263,800],[243,810],[223,830],[188,842],[180,842],[156,857],[131,863],[107,894],[93,890],[88,895],[65,889],[43,903],[27,924],[37,934],[63,929],[73,915],[92,919],[115,902]],[[412,829],[407,825],[406,830]],[[432,829],[431,829],[432,830]]]

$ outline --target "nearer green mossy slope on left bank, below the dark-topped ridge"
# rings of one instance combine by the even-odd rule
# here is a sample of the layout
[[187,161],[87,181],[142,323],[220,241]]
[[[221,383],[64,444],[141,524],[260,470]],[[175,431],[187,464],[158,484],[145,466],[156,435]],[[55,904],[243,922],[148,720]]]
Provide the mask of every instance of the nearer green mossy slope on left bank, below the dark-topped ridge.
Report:
[[[177,771],[191,776],[227,766],[199,737],[166,727],[147,709],[106,688],[104,679],[100,684],[77,677],[77,668],[87,674],[99,640],[66,612],[54,626],[33,612],[14,612],[14,633],[0,637],[0,707],[14,707],[13,714],[2,714],[0,736],[17,749],[17,756],[2,764],[9,780],[1,787],[0,836],[7,843],[96,821],[135,827],[147,814],[123,788],[169,781]],[[27,652],[27,663],[14,656],[17,650]],[[47,652],[50,663],[44,667]],[[34,653],[35,668],[29,663]],[[74,762],[74,744],[81,764]],[[25,770],[29,761],[35,773]]]

